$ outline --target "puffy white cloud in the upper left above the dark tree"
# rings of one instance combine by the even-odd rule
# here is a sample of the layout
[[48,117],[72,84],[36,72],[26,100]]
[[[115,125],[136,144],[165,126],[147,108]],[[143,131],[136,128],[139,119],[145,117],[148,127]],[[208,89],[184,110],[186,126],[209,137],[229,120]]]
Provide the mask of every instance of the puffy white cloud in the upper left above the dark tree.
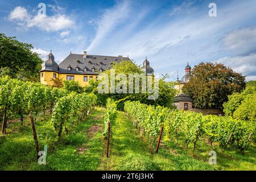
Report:
[[37,14],[31,16],[27,13],[27,10],[24,9],[24,7],[20,6],[11,11],[9,20],[14,21],[18,26],[23,26],[24,28],[37,27],[40,30],[47,32],[71,28],[74,24],[73,20],[64,14],[56,14],[52,16]]

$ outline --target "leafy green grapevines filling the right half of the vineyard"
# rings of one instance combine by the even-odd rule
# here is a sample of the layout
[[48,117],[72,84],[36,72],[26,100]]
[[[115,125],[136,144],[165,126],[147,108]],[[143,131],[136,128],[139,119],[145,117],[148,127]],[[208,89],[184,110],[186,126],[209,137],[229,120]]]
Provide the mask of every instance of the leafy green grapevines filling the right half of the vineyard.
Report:
[[146,133],[155,140],[163,126],[165,141],[183,134],[187,147],[191,143],[193,150],[199,137],[203,137],[207,138],[210,144],[218,142],[223,150],[232,146],[243,151],[249,147],[256,129],[255,123],[250,121],[169,110],[161,106],[147,106],[138,101],[126,102],[125,111],[127,116],[136,122],[139,130],[143,130],[143,135]]

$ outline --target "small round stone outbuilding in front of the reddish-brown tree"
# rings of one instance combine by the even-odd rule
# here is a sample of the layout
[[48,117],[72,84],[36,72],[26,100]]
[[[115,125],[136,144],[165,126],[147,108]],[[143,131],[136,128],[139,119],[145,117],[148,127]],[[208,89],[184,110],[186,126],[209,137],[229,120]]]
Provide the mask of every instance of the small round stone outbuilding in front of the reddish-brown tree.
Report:
[[192,98],[186,94],[174,97],[174,105],[180,110],[192,110]]

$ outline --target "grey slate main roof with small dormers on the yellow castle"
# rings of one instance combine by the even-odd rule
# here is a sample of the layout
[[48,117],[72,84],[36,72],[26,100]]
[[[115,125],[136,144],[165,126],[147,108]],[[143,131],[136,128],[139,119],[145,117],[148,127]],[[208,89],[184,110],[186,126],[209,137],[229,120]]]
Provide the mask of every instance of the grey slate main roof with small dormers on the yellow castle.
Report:
[[[86,55],[86,58],[84,58],[83,54],[70,53],[58,65],[57,71],[64,74],[98,75],[100,68],[102,71],[106,71],[106,69],[111,67],[111,63],[120,63],[122,60],[131,61],[129,57]],[[53,68],[51,65],[47,64],[47,66],[43,68],[43,64],[41,71],[51,71],[51,69],[56,69],[56,65]],[[68,67],[71,67],[70,71],[68,70]],[[76,67],[78,67],[79,70],[76,70]],[[84,71],[84,68],[86,68],[86,71]],[[95,72],[92,71],[92,68],[95,68]]]

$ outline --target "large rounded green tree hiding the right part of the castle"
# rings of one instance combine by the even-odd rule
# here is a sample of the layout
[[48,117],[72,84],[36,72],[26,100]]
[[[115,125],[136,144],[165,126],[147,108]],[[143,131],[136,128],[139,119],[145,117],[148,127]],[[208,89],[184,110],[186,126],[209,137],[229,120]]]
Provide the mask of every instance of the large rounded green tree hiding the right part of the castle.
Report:
[[[135,74],[141,74],[143,73],[142,69],[133,63],[133,61],[121,61],[121,63],[114,63],[112,64],[112,69],[115,69],[115,75],[118,75],[119,73],[125,74],[125,76],[128,78],[130,73]],[[106,73],[110,80],[110,69],[106,70],[104,73]],[[154,76],[152,76],[154,77]],[[159,97],[156,100],[148,100],[148,96],[151,95],[150,93],[108,93],[108,94],[100,94],[97,93],[97,86],[100,81],[93,81],[90,82],[89,86],[85,87],[85,92],[93,92],[97,94],[98,98],[98,104],[105,105],[106,100],[108,98],[112,98],[114,101],[122,100],[117,103],[118,110],[123,110],[124,102],[126,100],[131,101],[140,101],[144,104],[150,104],[150,105],[162,105],[162,106],[168,106],[172,107],[172,103],[174,101],[174,96],[176,94],[176,90],[174,89],[174,83],[173,82],[166,82],[167,76],[164,76],[163,78],[158,79],[159,81]],[[148,78],[147,78],[148,79]],[[152,78],[154,81],[154,79]],[[115,80],[115,84],[118,84],[119,81],[117,79]],[[134,81],[135,82],[135,81]],[[109,84],[110,85],[110,84]],[[135,84],[133,84],[133,90],[135,89]],[[154,85],[154,83],[152,84]],[[127,92],[129,90],[129,79],[127,79]],[[140,81],[139,90],[142,90],[142,82]],[[126,98],[124,100],[124,98]]]

